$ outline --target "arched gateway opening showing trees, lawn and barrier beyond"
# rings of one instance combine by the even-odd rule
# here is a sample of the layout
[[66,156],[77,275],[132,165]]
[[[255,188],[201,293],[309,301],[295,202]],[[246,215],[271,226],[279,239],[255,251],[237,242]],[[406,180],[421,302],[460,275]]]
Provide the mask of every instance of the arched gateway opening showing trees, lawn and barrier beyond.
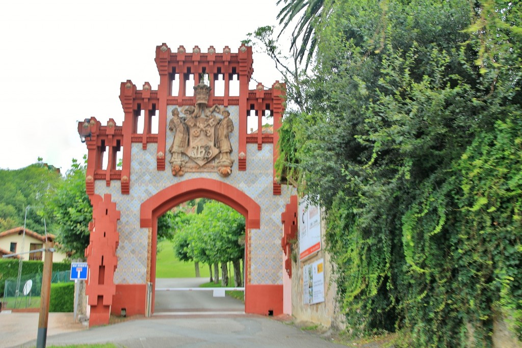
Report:
[[245,217],[189,200],[158,219],[155,314],[243,314]]

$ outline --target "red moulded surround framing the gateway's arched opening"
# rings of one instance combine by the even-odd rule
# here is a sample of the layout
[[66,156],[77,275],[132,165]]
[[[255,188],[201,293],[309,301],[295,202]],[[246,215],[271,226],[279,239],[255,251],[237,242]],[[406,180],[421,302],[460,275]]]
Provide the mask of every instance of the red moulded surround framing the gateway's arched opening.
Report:
[[[148,260],[149,272],[147,277],[148,282],[152,285],[152,289],[156,286],[158,218],[172,207],[180,205],[187,200],[196,198],[209,198],[220,201],[242,214],[245,217],[246,240],[248,240],[248,233],[251,229],[259,229],[259,205],[239,189],[224,182],[207,178],[189,179],[159,191],[156,195],[142,203],[140,210],[141,227],[151,230],[151,238],[148,247],[150,255],[150,260]],[[247,252],[247,248],[248,245],[246,244],[245,252]],[[245,259],[244,268],[245,273],[247,273],[250,268],[248,259]],[[248,287],[246,286],[246,283],[245,277],[245,307],[248,298]],[[152,291],[150,301],[151,313],[154,313],[155,311],[154,303],[155,292]]]

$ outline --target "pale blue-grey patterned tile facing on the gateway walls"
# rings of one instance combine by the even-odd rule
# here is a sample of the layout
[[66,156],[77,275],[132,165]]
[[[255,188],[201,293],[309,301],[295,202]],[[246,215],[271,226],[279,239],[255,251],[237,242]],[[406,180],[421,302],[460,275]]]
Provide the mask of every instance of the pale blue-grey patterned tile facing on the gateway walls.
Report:
[[[173,106],[169,106],[167,125],[169,124]],[[211,178],[226,182],[254,199],[261,207],[261,225],[259,230],[251,231],[251,283],[252,284],[282,284],[281,249],[281,213],[290,201],[292,189],[283,185],[280,196],[272,194],[272,145],[263,144],[258,151],[257,144],[247,144],[247,171],[239,172],[237,163],[238,148],[238,106],[230,106],[230,117],[234,123],[234,132],[230,135],[235,158],[232,174],[223,178],[217,172],[185,173],[178,177],[170,171],[167,153],[167,169],[164,172],[156,170],[156,143],[149,143],[143,150],[140,143],[132,147],[131,190],[130,195],[122,195],[120,182],[111,182],[110,187],[105,181],[96,182],[96,193],[110,193],[121,211],[118,222],[120,245],[116,251],[118,266],[114,275],[116,284],[143,284],[147,278],[147,248],[148,230],[139,227],[140,205],[146,199],[170,185],[192,178]],[[167,148],[170,147],[174,135],[167,131]]]

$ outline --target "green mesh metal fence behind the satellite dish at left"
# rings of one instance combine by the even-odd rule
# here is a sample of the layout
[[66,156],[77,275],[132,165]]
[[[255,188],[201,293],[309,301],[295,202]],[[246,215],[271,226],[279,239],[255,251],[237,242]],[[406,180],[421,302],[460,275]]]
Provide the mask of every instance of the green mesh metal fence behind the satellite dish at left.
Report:
[[[53,272],[51,283],[70,282],[70,271]],[[40,307],[40,292],[42,290],[42,274],[23,274],[17,292],[17,278],[5,281],[3,309],[25,309]]]

